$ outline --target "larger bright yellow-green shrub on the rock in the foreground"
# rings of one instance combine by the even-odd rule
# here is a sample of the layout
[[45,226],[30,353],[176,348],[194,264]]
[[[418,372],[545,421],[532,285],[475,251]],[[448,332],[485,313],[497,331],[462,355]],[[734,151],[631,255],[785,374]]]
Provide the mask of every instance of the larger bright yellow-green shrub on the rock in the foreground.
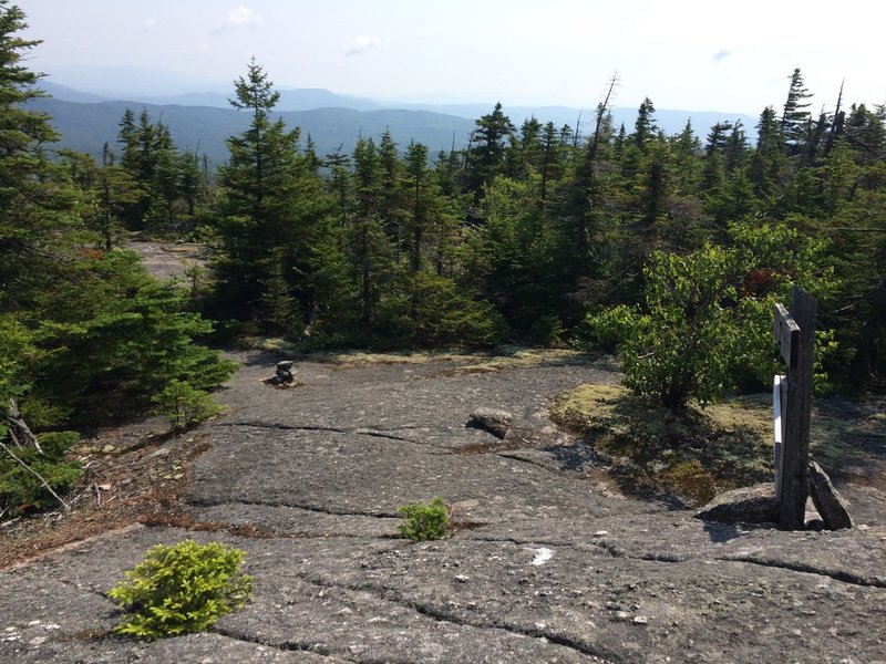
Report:
[[205,630],[251,594],[244,556],[218,542],[157,544],[107,593],[127,612],[115,631],[153,641]]

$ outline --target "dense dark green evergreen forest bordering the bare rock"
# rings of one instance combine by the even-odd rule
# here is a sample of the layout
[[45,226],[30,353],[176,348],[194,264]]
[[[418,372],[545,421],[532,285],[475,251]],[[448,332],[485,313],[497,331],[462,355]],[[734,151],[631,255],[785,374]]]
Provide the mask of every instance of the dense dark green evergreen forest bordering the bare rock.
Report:
[[[614,77],[581,133],[497,104],[447,152],[385,132],[317,154],[253,61],[231,93],[249,128],[210,172],[138,108],[101,159],[45,149],[24,25],[0,0],[0,422],[82,430],[210,391],[233,371],[212,347],[260,335],[616,350],[679,408],[767,385],[792,284],[818,300],[818,387],[886,386],[886,107],[835,90],[814,113],[800,69],[755,127],[666,135],[649,98],[614,126]],[[158,282],[133,237],[204,243],[208,269]]]

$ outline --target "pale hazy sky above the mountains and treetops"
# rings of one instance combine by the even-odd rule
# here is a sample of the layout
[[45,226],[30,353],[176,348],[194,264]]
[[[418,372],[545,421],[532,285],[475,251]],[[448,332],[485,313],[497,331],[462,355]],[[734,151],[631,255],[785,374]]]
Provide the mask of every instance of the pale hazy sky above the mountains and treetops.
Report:
[[[813,110],[886,102],[880,0],[20,0],[30,65],[169,70],[229,90],[255,55],[279,87],[381,100],[781,108],[800,68]],[[50,77],[53,80],[53,77]],[[172,81],[172,79],[171,79]],[[228,87],[225,87],[225,85]],[[171,92],[179,92],[178,90]]]

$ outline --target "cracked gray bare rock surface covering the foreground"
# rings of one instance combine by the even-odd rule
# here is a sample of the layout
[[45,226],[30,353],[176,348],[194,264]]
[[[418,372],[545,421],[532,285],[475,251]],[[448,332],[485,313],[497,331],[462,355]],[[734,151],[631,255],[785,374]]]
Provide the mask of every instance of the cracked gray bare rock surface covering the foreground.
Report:
[[[873,489],[853,530],[703,521],[598,491],[548,435],[555,394],[617,378],[602,370],[298,363],[305,385],[281,391],[261,383],[278,359],[243,359],[189,470],[195,529],[132,527],[0,571],[0,661],[886,662]],[[494,437],[465,426],[477,404],[548,434],[480,453]],[[398,507],[436,495],[454,536],[399,538]],[[205,634],[112,635],[107,590],[187,538],[246,551],[250,602]]]

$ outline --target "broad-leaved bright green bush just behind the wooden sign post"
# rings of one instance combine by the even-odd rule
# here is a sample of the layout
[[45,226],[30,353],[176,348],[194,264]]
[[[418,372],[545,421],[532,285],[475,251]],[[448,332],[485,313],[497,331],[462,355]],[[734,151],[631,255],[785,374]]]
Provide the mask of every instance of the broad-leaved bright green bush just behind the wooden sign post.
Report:
[[652,252],[643,305],[586,319],[600,341],[616,344],[625,385],[674,413],[750,378],[767,384],[783,371],[772,339],[775,301],[790,301],[792,283],[817,297],[833,288],[831,270],[816,269],[821,246],[795,231],[736,222],[729,234],[732,248]]

